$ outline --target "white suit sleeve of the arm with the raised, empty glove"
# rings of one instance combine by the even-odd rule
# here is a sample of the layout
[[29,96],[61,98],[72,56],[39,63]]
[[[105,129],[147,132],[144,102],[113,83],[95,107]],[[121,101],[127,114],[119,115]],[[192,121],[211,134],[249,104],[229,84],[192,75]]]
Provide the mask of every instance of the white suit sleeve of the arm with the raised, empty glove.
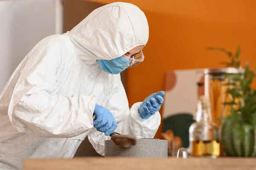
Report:
[[[107,102],[102,107],[109,109],[115,117],[118,123],[115,132],[134,135],[137,139],[154,138],[161,122],[160,113],[155,113],[149,119],[142,119],[138,113],[142,102],[135,103],[129,111],[128,99],[120,75],[117,76],[111,89],[111,94],[108,96]],[[105,140],[109,140],[110,136],[105,136],[104,133],[98,132],[94,128],[88,133],[88,139],[96,152],[103,156]]]

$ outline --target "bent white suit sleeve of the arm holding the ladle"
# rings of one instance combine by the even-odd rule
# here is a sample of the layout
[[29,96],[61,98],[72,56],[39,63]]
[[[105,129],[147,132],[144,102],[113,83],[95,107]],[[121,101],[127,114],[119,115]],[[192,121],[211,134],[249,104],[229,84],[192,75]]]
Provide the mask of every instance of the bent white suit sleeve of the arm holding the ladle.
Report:
[[65,49],[58,43],[45,44],[40,42],[25,58],[9,105],[9,118],[19,132],[49,138],[78,136],[93,128],[96,97],[55,94]]

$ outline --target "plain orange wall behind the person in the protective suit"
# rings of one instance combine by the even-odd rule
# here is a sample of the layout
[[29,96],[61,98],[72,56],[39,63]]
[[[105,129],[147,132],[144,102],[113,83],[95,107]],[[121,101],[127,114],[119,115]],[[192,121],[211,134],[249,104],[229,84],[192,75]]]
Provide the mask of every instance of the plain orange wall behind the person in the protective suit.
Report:
[[[93,0],[112,3],[115,0]],[[128,69],[130,105],[164,89],[166,71],[219,67],[223,54],[207,46],[235,51],[256,65],[256,0],[124,0],[139,6],[148,19],[145,61]],[[244,60],[243,60],[244,62]],[[160,128],[161,130],[161,128]],[[160,132],[159,130],[159,132]],[[160,133],[156,137],[160,137]]]

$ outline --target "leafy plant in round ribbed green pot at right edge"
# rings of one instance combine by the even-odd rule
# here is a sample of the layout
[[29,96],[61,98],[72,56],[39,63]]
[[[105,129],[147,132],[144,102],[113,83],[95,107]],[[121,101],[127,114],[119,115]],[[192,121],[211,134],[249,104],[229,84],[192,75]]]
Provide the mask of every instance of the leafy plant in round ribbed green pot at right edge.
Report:
[[256,90],[251,88],[255,78],[254,70],[249,67],[248,62],[245,68],[241,69],[240,47],[235,54],[224,48],[208,49],[227,54],[230,62],[222,63],[239,70],[239,74],[225,75],[233,82],[224,84],[232,85],[232,88],[227,90],[232,100],[224,103],[231,106],[231,114],[222,118],[220,129],[222,148],[227,156],[256,156]]

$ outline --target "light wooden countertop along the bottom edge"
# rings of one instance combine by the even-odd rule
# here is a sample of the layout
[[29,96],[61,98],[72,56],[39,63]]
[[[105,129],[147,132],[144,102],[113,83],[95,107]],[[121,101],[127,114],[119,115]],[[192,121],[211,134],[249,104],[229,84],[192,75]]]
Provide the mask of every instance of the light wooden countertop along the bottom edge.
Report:
[[26,159],[23,170],[256,170],[255,158]]

